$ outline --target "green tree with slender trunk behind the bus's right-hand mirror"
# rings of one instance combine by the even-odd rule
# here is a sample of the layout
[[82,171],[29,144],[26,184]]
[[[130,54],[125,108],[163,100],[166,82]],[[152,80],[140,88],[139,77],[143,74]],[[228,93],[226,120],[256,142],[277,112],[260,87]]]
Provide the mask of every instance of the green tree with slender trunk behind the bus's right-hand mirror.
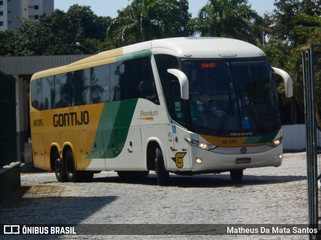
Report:
[[[288,45],[290,51],[286,51],[283,68],[293,81],[293,97],[291,97],[291,121],[296,123],[296,105],[301,113],[304,112],[303,73],[300,46],[311,41],[311,35],[318,36],[320,27],[320,1],[319,0],[277,0],[274,2],[276,9],[272,14],[270,27],[270,39],[279,39],[282,45]],[[273,49],[274,55],[283,55],[282,47]],[[285,100],[286,101],[286,100]]]

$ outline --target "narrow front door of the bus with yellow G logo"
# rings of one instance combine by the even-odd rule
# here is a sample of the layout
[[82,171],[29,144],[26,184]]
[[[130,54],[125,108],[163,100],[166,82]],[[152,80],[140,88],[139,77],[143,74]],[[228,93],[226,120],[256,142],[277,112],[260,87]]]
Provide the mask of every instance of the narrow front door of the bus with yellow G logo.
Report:
[[[171,116],[174,149],[172,156],[177,171],[191,170],[188,142],[184,139],[187,136],[187,125],[185,102],[181,98],[181,89],[178,82],[171,83]],[[176,123],[177,122],[177,123]],[[173,155],[173,154],[172,154]]]

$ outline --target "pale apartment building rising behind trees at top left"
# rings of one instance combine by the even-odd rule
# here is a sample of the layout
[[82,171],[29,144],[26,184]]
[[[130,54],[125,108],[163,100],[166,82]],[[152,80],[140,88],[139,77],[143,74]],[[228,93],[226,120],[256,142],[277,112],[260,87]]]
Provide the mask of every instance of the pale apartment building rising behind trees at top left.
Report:
[[37,21],[43,13],[54,10],[54,0],[0,0],[0,30],[20,27],[20,18]]

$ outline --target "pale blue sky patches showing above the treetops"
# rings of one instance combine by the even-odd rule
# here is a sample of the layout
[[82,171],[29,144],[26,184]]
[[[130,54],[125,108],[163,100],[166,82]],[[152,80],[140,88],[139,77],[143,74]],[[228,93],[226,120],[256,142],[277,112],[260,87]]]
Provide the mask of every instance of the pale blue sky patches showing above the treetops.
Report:
[[[189,12],[192,17],[196,17],[198,11],[207,3],[208,0],[189,0]],[[91,6],[91,10],[98,16],[116,17],[117,10],[126,7],[131,0],[54,0],[55,9],[67,11],[73,4]],[[251,8],[263,15],[264,12],[272,12],[274,0],[248,0]]]

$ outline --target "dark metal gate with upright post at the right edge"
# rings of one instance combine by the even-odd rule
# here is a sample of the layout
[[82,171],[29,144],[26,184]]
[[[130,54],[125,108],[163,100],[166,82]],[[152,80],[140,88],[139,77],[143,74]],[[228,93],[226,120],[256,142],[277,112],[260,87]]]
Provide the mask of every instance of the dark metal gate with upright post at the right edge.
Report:
[[[318,209],[321,198],[318,191],[318,180],[321,176],[321,148],[319,147],[321,122],[317,108],[316,83],[320,83],[321,45],[301,47],[301,53],[305,99],[308,222],[310,228],[317,228],[320,232]],[[319,235],[310,235],[309,239],[319,239]]]

